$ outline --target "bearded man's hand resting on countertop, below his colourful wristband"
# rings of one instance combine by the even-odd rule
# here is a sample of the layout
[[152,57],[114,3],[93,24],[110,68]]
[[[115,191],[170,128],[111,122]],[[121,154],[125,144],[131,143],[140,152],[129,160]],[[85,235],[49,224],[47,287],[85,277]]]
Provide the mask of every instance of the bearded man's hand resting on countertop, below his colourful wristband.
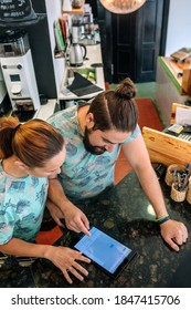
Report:
[[160,230],[162,238],[176,251],[180,250],[179,246],[187,242],[188,230],[181,221],[170,219],[160,225]]

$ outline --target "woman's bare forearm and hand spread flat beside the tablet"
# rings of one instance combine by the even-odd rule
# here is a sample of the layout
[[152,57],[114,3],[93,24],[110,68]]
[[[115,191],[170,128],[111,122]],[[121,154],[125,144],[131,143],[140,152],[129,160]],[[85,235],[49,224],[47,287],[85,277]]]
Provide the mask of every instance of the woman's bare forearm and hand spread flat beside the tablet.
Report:
[[79,251],[67,247],[36,245],[12,238],[9,242],[0,246],[0,251],[19,257],[46,258],[61,269],[68,283],[72,283],[68,270],[81,281],[84,279],[82,275],[88,275],[87,270],[77,260],[85,262],[91,262],[91,260]]

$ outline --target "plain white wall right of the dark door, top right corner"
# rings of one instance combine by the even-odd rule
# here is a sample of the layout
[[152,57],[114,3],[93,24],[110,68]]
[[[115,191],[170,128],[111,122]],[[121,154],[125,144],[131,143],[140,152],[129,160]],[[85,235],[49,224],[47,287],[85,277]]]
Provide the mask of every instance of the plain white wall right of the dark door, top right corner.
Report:
[[191,48],[191,0],[170,0],[166,56]]

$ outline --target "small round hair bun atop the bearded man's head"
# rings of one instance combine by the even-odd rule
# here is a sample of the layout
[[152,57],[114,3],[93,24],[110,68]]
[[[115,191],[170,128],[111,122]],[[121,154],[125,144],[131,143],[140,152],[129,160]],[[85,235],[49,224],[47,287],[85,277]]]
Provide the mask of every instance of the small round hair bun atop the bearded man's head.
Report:
[[116,87],[115,94],[119,97],[130,100],[136,95],[136,86],[134,82],[127,78]]

